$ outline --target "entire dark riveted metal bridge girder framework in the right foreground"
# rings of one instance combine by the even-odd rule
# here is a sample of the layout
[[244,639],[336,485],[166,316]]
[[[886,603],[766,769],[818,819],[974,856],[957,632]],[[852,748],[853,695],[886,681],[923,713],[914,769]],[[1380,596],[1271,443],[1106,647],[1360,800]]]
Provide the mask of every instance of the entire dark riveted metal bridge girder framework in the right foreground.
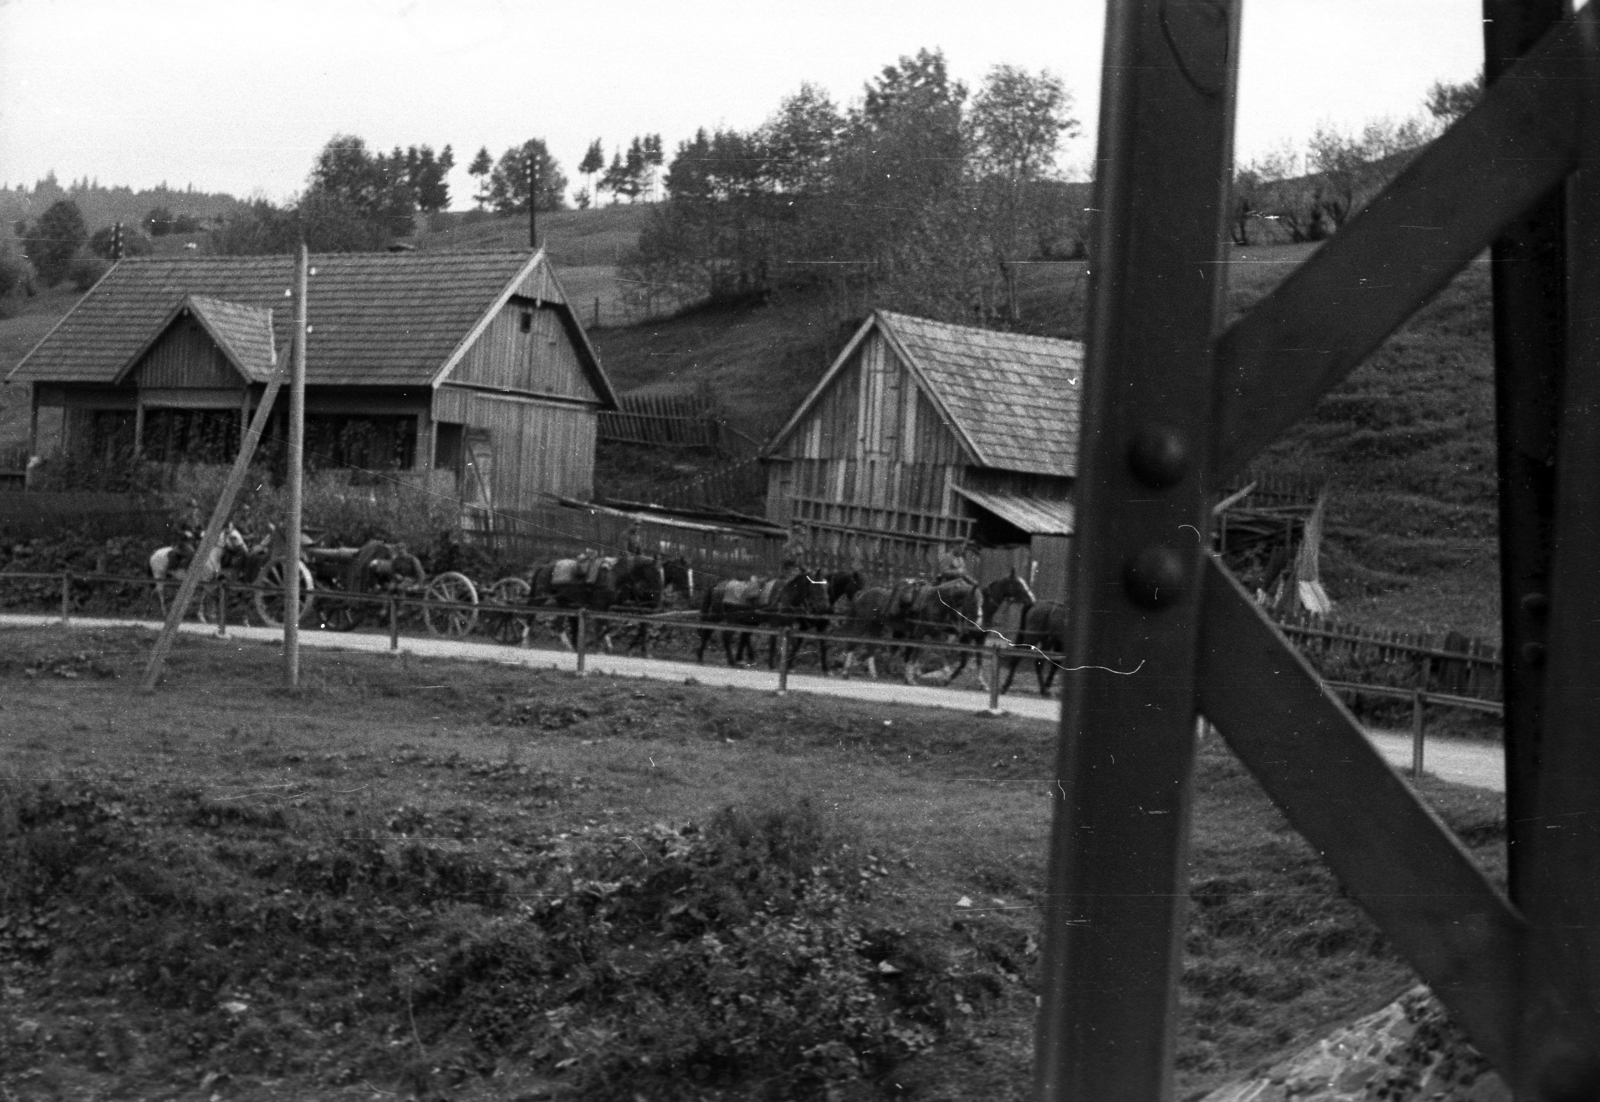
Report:
[[[1483,102],[1213,342],[1237,3],[1109,5],[1040,1097],[1170,1097],[1197,705],[1520,1099],[1600,1097],[1600,32],[1485,14]],[[1200,537],[1491,240],[1515,907]]]

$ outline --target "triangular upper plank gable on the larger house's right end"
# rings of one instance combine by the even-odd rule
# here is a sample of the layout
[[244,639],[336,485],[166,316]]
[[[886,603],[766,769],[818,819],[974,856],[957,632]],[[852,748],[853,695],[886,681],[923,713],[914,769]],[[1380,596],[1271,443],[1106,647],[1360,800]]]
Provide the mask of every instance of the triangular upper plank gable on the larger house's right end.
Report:
[[[526,333],[522,329],[523,318],[528,318]],[[450,373],[450,382],[600,401],[560,315],[520,296],[512,296],[478,334]]]

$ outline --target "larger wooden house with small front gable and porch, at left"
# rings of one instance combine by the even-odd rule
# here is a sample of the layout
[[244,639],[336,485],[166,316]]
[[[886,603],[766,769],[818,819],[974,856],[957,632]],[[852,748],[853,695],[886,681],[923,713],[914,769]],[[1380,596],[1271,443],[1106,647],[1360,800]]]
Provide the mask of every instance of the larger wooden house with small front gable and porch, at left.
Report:
[[[29,451],[227,462],[293,281],[288,256],[120,261],[6,377]],[[430,472],[483,526],[592,496],[616,395],[542,251],[314,256],[307,320],[307,465]]]

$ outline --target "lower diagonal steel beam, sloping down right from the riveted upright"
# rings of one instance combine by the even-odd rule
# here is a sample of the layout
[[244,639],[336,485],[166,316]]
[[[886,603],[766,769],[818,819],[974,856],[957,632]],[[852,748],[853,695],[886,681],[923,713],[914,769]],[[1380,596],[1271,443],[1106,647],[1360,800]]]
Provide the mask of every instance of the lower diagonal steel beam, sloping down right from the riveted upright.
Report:
[[1522,916],[1216,558],[1200,710],[1478,1049],[1507,1067]]

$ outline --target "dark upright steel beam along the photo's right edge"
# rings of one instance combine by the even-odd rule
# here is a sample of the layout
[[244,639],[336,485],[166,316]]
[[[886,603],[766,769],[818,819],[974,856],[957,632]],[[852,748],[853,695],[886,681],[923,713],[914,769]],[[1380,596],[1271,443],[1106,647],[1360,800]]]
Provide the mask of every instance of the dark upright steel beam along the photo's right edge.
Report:
[[[1578,19],[1579,171],[1568,190],[1566,371],[1555,462],[1544,731],[1518,888],[1530,923],[1518,1097],[1600,1097],[1600,21]],[[1520,777],[1518,781],[1526,781]]]

